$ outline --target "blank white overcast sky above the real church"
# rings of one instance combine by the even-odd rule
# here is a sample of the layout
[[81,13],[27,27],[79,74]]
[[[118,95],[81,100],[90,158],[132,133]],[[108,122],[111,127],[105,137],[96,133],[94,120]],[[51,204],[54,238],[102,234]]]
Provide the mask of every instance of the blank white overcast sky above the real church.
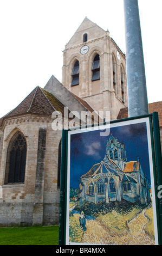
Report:
[[[161,0],[139,0],[148,102],[161,101]],[[0,117],[51,75],[61,82],[62,51],[88,17],[125,53],[122,0],[0,0]]]

